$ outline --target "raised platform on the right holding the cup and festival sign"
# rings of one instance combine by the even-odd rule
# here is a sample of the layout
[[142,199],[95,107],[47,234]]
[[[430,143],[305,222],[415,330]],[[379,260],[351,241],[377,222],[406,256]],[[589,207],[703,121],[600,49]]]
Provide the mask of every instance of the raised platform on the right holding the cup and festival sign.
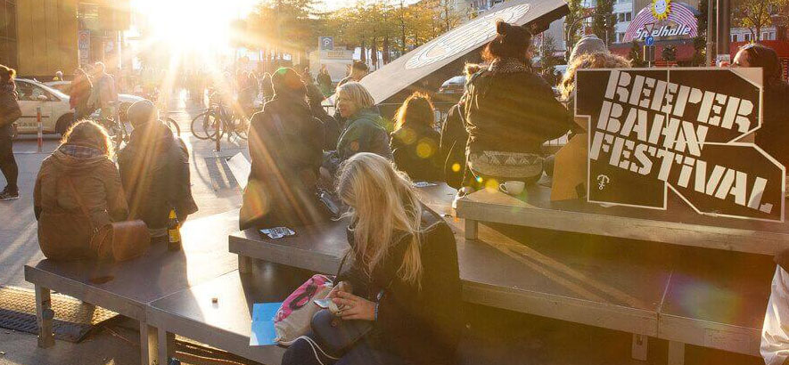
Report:
[[457,216],[624,239],[774,255],[789,248],[789,224],[698,215],[677,199],[667,210],[601,207],[581,199],[550,201],[535,184],[518,199],[500,191],[476,191],[460,199]]

